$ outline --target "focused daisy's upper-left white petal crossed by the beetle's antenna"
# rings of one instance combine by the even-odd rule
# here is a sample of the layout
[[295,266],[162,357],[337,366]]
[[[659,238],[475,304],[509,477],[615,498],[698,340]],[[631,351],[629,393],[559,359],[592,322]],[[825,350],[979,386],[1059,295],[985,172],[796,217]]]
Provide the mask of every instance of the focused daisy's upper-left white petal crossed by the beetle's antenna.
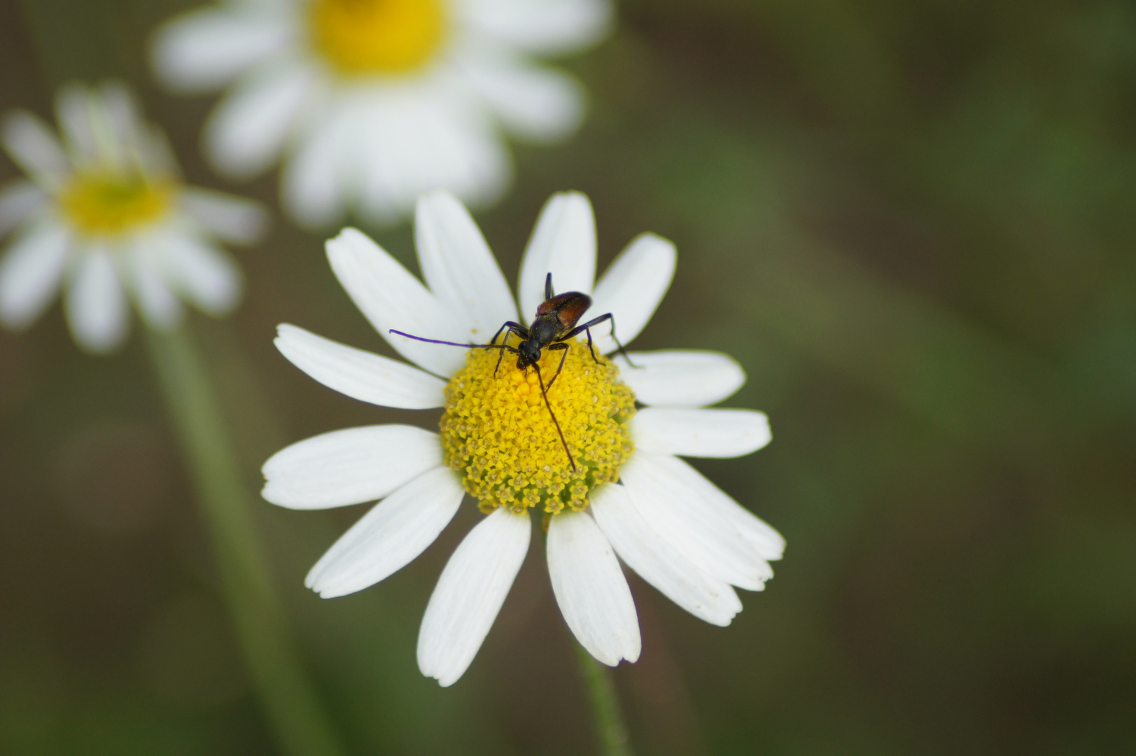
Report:
[[399,354],[437,375],[450,376],[466,364],[460,347],[415,341],[387,333],[396,329],[416,337],[462,342],[461,318],[434,297],[383,248],[356,229],[344,229],[327,242],[335,276],[370,324]]

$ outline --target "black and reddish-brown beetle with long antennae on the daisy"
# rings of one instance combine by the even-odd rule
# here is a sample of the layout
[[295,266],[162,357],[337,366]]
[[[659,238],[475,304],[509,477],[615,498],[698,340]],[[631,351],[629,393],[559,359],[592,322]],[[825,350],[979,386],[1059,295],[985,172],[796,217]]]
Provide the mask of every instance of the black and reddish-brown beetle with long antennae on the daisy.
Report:
[[[504,352],[510,351],[517,355],[517,369],[528,371],[529,367],[536,369],[536,379],[541,384],[541,396],[544,397],[544,406],[549,408],[549,415],[552,416],[552,423],[557,426],[557,433],[560,434],[560,443],[565,447],[565,452],[568,455],[568,462],[571,463],[571,468],[576,470],[576,460],[571,456],[571,449],[568,448],[568,441],[565,440],[563,431],[560,430],[560,422],[557,419],[556,413],[552,412],[552,405],[549,402],[549,389],[556,383],[557,379],[560,377],[560,372],[565,368],[565,359],[568,358],[568,348],[570,344],[569,340],[575,339],[580,333],[587,335],[587,349],[592,354],[592,359],[595,364],[600,364],[600,359],[595,356],[595,348],[592,346],[592,327],[603,323],[605,321],[611,321],[611,339],[616,342],[619,348],[619,354],[627,359],[627,364],[632,367],[635,365],[632,363],[630,357],[624,350],[624,346],[619,343],[619,339],[616,338],[616,318],[611,313],[604,313],[599,317],[593,317],[591,321],[583,325],[576,325],[580,316],[587,311],[587,308],[592,306],[592,298],[579,291],[566,291],[562,294],[552,293],[552,274],[549,273],[544,279],[544,301],[536,308],[536,318],[533,319],[533,324],[527,329],[520,323],[513,321],[506,321],[504,324],[498,329],[498,332],[493,334],[488,343],[458,343],[457,341],[440,341],[437,339],[425,339],[423,337],[415,337],[409,333],[403,333],[402,331],[395,331],[391,329],[391,333],[396,333],[400,337],[406,337],[408,339],[415,339],[417,341],[426,341],[428,343],[441,343],[451,347],[466,347],[467,349],[500,349],[501,356],[498,357],[496,367],[493,368],[493,375],[496,376],[498,368],[501,367],[501,360],[504,358]],[[516,347],[502,341],[498,343],[498,337],[501,335],[502,331],[508,331],[521,339],[520,343]],[[508,335],[506,340],[508,340]],[[544,376],[541,375],[541,350],[548,349],[562,350],[565,354],[560,356],[560,365],[557,367],[556,375],[549,381],[548,385],[544,383]]]

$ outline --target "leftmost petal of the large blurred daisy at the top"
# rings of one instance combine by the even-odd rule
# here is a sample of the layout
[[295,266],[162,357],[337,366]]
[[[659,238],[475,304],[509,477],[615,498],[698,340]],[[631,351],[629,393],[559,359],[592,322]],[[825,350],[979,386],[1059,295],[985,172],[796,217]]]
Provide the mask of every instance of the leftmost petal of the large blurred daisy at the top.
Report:
[[293,34],[284,15],[207,8],[164,24],[150,59],[170,89],[208,92],[284,47]]

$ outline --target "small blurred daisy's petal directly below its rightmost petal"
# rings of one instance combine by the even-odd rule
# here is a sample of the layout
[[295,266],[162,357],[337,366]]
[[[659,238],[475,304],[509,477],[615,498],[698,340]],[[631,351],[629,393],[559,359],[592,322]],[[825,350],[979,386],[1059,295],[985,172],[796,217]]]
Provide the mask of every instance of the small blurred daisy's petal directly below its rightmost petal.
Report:
[[170,279],[186,299],[210,315],[225,315],[241,299],[241,268],[203,241],[182,234],[161,240]]

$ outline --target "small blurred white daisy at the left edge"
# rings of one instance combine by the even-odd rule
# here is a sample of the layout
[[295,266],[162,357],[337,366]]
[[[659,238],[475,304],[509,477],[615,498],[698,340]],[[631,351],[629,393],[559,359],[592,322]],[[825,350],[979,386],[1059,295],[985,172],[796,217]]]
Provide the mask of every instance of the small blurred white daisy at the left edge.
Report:
[[27,174],[0,191],[0,321],[34,322],[62,288],[78,344],[122,344],[133,299],[148,325],[169,329],[185,299],[224,315],[241,272],[216,241],[249,243],[267,216],[254,202],[181,183],[165,135],[142,121],[120,83],[64,86],[56,98],[62,141],[34,115],[0,124],[0,142]]

